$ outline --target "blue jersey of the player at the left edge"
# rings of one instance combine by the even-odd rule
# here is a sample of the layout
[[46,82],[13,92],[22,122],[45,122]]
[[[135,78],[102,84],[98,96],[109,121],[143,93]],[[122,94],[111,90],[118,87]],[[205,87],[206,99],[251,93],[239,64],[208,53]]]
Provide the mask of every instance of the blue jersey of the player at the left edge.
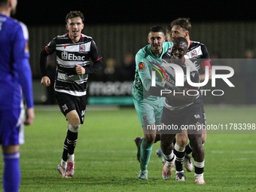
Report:
[[29,33],[20,21],[0,14],[0,109],[20,108],[22,93],[33,107]]

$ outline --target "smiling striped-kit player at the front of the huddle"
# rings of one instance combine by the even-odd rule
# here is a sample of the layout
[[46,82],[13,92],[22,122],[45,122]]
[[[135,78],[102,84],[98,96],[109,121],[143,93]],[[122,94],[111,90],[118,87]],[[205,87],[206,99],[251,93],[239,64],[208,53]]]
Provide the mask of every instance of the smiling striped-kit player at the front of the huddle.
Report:
[[[191,62],[190,59],[185,59],[184,57],[187,53],[187,40],[182,37],[177,37],[172,42],[173,46],[169,49],[170,51],[167,51],[163,55],[163,60],[166,60],[168,63],[175,63],[177,64],[176,66],[181,66],[181,70],[183,70],[181,81],[184,82],[184,85],[181,87],[175,85],[177,83],[176,78],[178,74],[181,74],[180,71],[176,71],[178,69],[174,68],[174,66],[164,66],[166,71],[165,87],[172,92],[164,95],[166,97],[166,102],[163,107],[163,115],[161,118],[161,124],[163,126],[163,129],[160,130],[161,148],[166,159],[162,176],[163,179],[166,180],[172,174],[173,164],[170,163],[169,160],[175,155],[175,180],[184,181],[184,171],[181,163],[184,160],[184,149],[175,143],[173,154],[172,142],[174,141],[176,134],[184,135],[184,130],[186,130],[185,133],[188,134],[190,145],[193,147],[195,182],[196,184],[205,184],[203,178],[204,148],[202,145],[203,111],[201,108],[200,87],[194,87],[197,85],[190,85],[187,81],[187,78],[190,77],[191,82],[199,83],[199,72],[197,67],[194,66],[194,63]],[[159,90],[163,89],[164,88],[160,86],[151,87],[149,92],[153,96],[159,96]],[[190,92],[192,92],[192,94]],[[174,125],[175,127],[166,130],[164,129],[164,125]],[[192,127],[193,129],[187,129],[187,127]],[[176,139],[178,140],[177,135]]]

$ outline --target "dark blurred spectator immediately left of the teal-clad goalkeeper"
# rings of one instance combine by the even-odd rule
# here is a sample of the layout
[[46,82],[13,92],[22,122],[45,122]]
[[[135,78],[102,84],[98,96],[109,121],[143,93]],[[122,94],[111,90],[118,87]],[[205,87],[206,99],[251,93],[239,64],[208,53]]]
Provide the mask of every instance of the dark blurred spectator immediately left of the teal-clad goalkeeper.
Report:
[[136,68],[135,56],[132,53],[127,53],[124,56],[123,66],[122,66],[123,79],[125,81],[134,80],[135,68]]

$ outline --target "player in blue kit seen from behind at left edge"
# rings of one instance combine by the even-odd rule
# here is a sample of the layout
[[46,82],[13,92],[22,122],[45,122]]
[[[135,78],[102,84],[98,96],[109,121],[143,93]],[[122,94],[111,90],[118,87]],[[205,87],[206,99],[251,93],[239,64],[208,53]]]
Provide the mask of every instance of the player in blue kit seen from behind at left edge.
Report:
[[[29,34],[25,24],[11,18],[16,7],[17,0],[0,0],[0,144],[5,162],[4,191],[20,188],[23,123],[31,124],[34,119]],[[22,96],[27,105],[25,122]]]

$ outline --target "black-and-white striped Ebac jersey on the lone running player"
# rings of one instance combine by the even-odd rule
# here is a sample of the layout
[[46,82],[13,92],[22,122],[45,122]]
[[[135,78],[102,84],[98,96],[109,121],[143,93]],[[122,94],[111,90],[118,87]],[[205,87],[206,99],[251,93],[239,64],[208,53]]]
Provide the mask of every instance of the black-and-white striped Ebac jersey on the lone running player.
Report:
[[69,38],[69,33],[66,33],[53,38],[45,50],[48,54],[56,51],[55,91],[72,96],[86,95],[89,75],[78,75],[75,64],[85,67],[90,66],[90,59],[93,62],[102,59],[93,38],[81,34],[80,40],[74,43]]

